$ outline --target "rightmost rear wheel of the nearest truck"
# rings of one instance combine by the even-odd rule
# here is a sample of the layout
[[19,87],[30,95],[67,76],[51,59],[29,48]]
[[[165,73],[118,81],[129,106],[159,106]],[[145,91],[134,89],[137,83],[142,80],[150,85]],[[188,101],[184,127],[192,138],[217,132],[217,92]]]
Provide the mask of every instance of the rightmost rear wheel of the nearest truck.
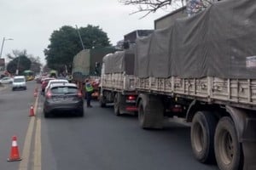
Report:
[[221,170],[238,170],[242,167],[241,144],[238,142],[235,124],[228,116],[224,116],[218,122],[214,150]]

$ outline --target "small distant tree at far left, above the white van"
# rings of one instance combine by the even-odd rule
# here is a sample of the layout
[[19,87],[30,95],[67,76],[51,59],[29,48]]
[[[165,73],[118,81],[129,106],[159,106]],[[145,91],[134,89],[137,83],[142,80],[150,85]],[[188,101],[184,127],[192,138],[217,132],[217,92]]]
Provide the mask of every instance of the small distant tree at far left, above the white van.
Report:
[[26,49],[24,49],[23,51],[14,50],[13,54],[14,55],[7,55],[9,59],[12,59],[7,65],[7,71],[9,71],[9,73],[15,74],[16,70],[21,73],[30,69],[32,61],[28,59]]

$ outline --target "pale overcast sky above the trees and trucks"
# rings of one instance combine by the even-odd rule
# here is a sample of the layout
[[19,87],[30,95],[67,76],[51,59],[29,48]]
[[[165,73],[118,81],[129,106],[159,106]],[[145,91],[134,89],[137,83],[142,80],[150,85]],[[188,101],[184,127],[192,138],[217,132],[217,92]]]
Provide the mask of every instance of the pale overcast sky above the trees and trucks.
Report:
[[[176,8],[176,7],[174,7]],[[137,6],[127,6],[118,0],[1,0],[0,42],[4,41],[2,58],[13,50],[26,49],[45,64],[44,48],[49,37],[61,26],[99,26],[115,45],[124,35],[135,30],[154,29],[154,20],[172,12],[172,8],[154,14],[131,14]]]

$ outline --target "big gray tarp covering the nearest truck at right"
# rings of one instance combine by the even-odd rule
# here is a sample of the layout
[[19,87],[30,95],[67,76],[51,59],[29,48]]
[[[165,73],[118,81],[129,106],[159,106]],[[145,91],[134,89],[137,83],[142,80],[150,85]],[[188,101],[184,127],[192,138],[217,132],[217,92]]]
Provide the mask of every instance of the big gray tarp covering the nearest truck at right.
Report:
[[256,78],[256,1],[213,3],[137,39],[137,77]]

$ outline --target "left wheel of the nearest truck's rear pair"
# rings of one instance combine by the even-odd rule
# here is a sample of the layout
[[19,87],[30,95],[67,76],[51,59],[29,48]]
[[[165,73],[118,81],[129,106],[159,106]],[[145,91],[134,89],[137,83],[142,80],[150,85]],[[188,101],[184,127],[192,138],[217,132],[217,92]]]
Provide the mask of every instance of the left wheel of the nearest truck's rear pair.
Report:
[[195,158],[202,163],[215,161],[214,133],[217,118],[209,111],[198,111],[192,121],[190,139]]

